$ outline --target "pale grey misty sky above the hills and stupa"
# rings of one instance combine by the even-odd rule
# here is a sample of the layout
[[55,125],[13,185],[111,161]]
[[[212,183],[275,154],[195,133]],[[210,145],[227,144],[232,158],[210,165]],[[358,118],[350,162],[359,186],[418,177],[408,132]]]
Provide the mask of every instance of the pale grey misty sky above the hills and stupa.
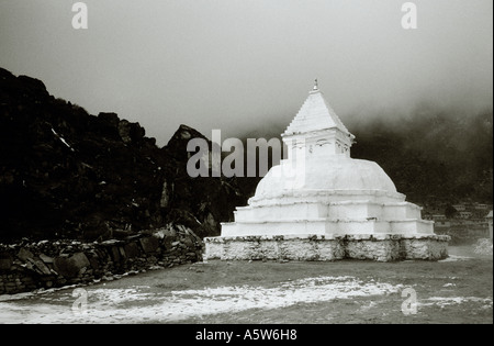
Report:
[[88,30],[75,2],[0,0],[0,67],[159,145],[181,123],[223,138],[284,127],[316,77],[349,125],[420,102],[492,109],[492,0],[413,1],[416,30],[397,0],[87,0]]

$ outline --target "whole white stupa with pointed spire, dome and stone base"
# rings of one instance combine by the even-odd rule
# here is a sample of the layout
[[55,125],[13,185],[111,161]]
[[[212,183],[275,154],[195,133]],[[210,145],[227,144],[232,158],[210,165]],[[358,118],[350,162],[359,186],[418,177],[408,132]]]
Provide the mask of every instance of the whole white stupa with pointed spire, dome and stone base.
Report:
[[205,238],[206,258],[335,260],[438,259],[448,236],[406,202],[375,163],[350,157],[355,136],[317,87],[282,139],[272,167],[235,222]]

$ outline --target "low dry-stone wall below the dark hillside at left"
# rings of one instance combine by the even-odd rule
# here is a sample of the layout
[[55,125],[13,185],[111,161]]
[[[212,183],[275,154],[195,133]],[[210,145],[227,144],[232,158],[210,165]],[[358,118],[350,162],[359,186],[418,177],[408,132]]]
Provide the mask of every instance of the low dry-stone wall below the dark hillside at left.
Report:
[[142,232],[122,241],[42,241],[0,244],[0,294],[113,280],[202,260],[202,241],[182,225]]

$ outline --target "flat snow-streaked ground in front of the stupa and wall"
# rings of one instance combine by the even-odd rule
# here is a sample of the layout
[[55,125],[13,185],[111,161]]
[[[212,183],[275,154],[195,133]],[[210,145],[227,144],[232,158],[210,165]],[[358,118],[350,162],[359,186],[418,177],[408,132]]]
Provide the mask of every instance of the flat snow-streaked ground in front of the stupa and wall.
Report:
[[[195,264],[0,295],[0,323],[420,322],[402,311],[405,289],[416,291],[422,321],[492,323],[492,257],[460,255],[438,263]],[[469,320],[458,320],[463,314]]]

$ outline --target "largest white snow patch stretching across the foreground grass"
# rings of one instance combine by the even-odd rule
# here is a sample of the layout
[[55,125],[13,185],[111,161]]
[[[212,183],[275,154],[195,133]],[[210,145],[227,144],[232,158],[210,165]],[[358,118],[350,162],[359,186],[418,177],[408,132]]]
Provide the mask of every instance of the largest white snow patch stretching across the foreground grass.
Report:
[[[146,286],[125,289],[88,288],[88,309],[74,313],[71,292],[46,297],[49,303],[0,303],[0,323],[142,323],[202,319],[249,309],[278,309],[297,303],[386,295],[401,284],[366,282],[355,277],[317,277],[281,282],[274,288],[226,286],[156,292]],[[45,301],[43,299],[42,301]]]

